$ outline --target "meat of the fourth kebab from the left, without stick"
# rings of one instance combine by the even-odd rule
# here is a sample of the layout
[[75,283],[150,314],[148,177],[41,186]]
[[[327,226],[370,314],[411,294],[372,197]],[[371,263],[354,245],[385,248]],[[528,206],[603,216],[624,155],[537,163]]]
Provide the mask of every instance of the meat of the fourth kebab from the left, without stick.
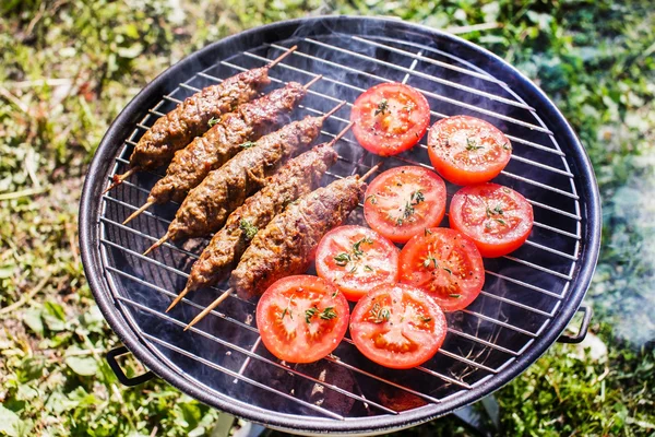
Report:
[[336,152],[326,143],[285,164],[261,191],[230,214],[225,227],[214,235],[193,264],[187,288],[211,286],[226,277],[250,243],[241,222],[255,232],[263,229],[289,202],[314,190],[336,158]]

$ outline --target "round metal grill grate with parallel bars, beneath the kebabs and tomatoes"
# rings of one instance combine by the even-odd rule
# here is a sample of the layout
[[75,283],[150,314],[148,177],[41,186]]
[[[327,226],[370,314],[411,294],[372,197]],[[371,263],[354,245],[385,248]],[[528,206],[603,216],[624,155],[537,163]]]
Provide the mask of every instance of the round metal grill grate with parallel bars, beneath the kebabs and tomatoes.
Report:
[[[289,366],[260,345],[253,326],[255,305],[234,295],[182,333],[183,326],[225,290],[224,284],[190,294],[170,314],[164,312],[206,240],[183,247],[165,244],[154,256],[141,255],[166,232],[178,208],[155,206],[129,226],[120,224],[162,177],[141,173],[103,197],[100,253],[116,307],[142,343],[194,387],[291,417],[353,421],[397,415],[407,405],[442,403],[488,383],[531,347],[561,309],[574,280],[584,223],[567,154],[539,111],[508,83],[457,57],[456,50],[429,42],[344,34],[253,47],[190,75],[164,95],[126,139],[109,179],[127,169],[127,157],[143,132],[184,97],[261,67],[294,44],[298,50],[271,71],[273,85],[307,83],[323,74],[294,117],[323,114],[340,101],[348,102],[325,122],[321,141],[345,126],[359,93],[381,82],[404,82],[422,92],[433,109],[431,123],[466,114],[505,132],[514,152],[497,181],[522,192],[534,206],[535,227],[527,244],[511,256],[485,260],[480,297],[467,309],[448,315],[446,340],[424,366],[402,373],[381,368],[361,357],[349,339],[319,365]],[[362,174],[382,160],[359,147],[352,133],[336,150],[340,161],[324,184]],[[407,164],[431,168],[425,139],[409,152],[384,158],[380,172]],[[456,189],[448,186],[449,199]],[[352,222],[364,223],[361,205]],[[446,218],[442,225],[448,225]]]

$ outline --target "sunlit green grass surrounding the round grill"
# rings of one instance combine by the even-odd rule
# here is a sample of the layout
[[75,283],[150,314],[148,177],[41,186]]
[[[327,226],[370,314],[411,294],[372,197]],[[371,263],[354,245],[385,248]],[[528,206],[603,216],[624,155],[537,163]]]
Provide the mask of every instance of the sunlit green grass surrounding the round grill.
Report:
[[[0,435],[201,436],[217,412],[162,381],[124,388],[78,249],[86,166],[118,111],[184,55],[309,13],[397,15],[504,57],[594,163],[604,245],[584,349],[555,345],[497,393],[502,435],[655,435],[655,21],[648,1],[5,0],[0,3]],[[500,23],[496,25],[495,23]],[[142,369],[132,361],[128,371]],[[406,434],[468,435],[444,418]]]

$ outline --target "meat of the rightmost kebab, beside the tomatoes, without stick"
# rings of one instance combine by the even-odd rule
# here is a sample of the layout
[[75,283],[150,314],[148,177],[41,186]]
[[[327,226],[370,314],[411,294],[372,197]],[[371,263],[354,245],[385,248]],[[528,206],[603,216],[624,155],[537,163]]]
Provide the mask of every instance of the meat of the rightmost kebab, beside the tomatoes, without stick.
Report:
[[284,276],[305,272],[321,238],[346,220],[365,188],[350,176],[291,202],[254,236],[231,273],[230,287],[251,298]]

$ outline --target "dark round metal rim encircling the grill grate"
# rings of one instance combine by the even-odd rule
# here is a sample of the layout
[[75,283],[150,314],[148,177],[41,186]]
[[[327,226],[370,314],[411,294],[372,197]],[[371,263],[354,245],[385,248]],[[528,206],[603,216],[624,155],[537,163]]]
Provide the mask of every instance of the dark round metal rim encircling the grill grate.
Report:
[[[223,51],[233,54],[237,51],[233,48],[238,48],[243,45],[252,47],[252,40],[259,42],[265,39],[262,38],[263,35],[275,35],[276,31],[278,31],[279,34],[287,34],[290,29],[290,34],[294,34],[297,28],[303,25],[326,26],[330,29],[337,31],[344,28],[359,28],[360,25],[379,25],[385,29],[391,28],[398,32],[418,32],[425,36],[433,37],[442,42],[463,45],[468,50],[480,56],[480,59],[490,67],[489,70],[492,69],[495,72],[503,72],[505,78],[511,76],[514,79],[516,85],[512,86],[512,90],[517,91],[516,88],[520,88],[522,92],[521,97],[526,102],[531,102],[531,105],[535,108],[538,108],[539,116],[548,125],[561,126],[562,130],[561,132],[558,132],[558,139],[565,141],[565,143],[571,146],[571,153],[567,153],[567,158],[573,163],[576,167],[575,169],[580,172],[580,174],[576,175],[576,186],[580,189],[579,196],[581,200],[584,200],[585,208],[582,218],[584,218],[585,223],[584,233],[581,235],[581,241],[584,243],[581,245],[580,250],[580,267],[576,269],[577,277],[575,277],[575,281],[571,281],[571,288],[565,302],[562,303],[563,305],[559,309],[559,314],[551,319],[547,331],[535,339],[535,342],[527,353],[519,356],[513,363],[504,367],[488,381],[485,381],[457,397],[444,400],[441,403],[428,404],[407,412],[400,412],[397,415],[380,415],[374,417],[334,421],[313,416],[289,416],[284,413],[272,413],[259,406],[247,405],[245,402],[229,398],[228,395],[224,395],[225,399],[217,399],[205,391],[200,385],[184,378],[182,375],[178,375],[174,369],[160,362],[130,328],[129,321],[117,306],[117,302],[112,298],[110,284],[106,276],[107,273],[102,263],[99,217],[103,203],[100,199],[105,181],[115,165],[114,158],[122,146],[124,139],[130,137],[130,133],[134,129],[134,125],[143,118],[144,114],[147,114],[147,109],[152,106],[153,101],[160,98],[162,95],[171,91],[170,88],[167,88],[168,84],[184,82],[196,71],[212,66],[216,54],[222,54]],[[79,224],[83,268],[92,293],[111,329],[136,358],[168,383],[171,383],[182,392],[211,406],[267,426],[306,434],[322,434],[326,432],[336,432],[338,434],[379,434],[415,426],[452,413],[510,382],[557,341],[569,321],[577,311],[596,268],[600,249],[600,198],[588,155],[570,123],[536,84],[500,57],[457,36],[425,25],[407,23],[395,19],[347,15],[319,15],[254,27],[210,44],[165,70],[154,81],[145,85],[123,108],[100,141],[84,182],[80,202]]]

